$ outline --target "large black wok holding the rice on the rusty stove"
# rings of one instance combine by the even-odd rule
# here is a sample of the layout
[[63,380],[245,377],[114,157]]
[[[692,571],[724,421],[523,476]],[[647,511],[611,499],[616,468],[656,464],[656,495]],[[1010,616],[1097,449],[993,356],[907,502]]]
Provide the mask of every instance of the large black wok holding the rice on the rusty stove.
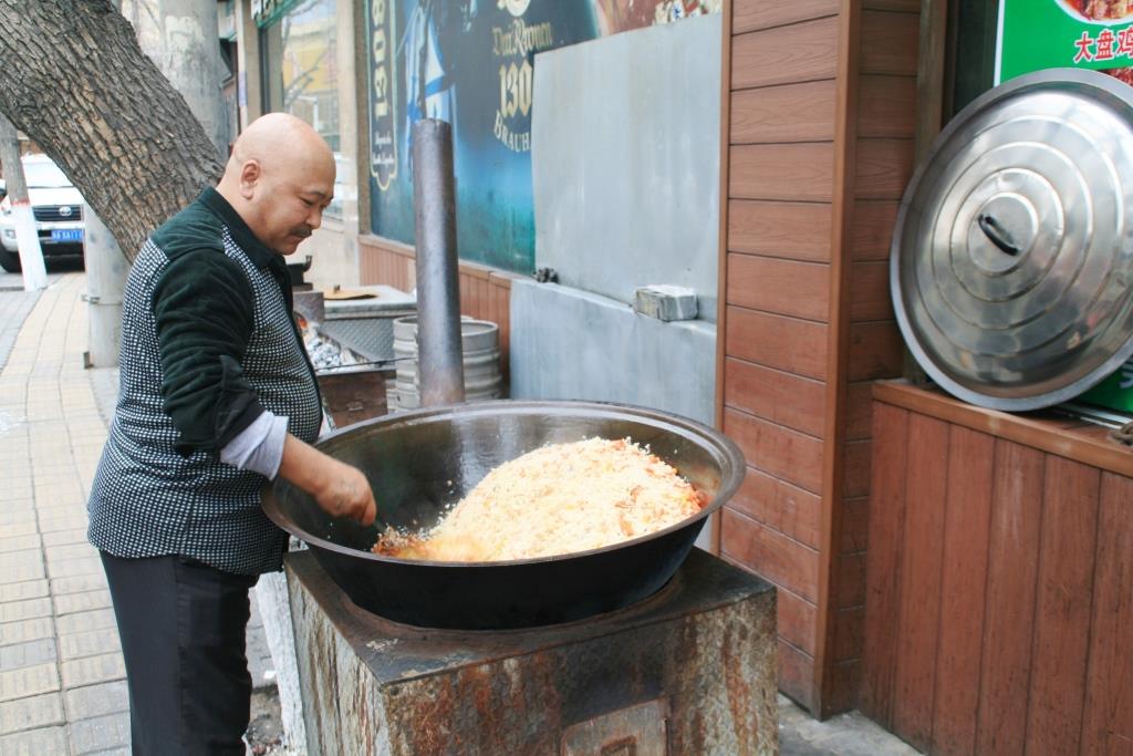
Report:
[[[378,527],[431,527],[500,464],[591,436],[649,444],[709,503],[655,534],[556,558],[426,562],[369,552]],[[401,413],[329,435],[318,448],[366,473],[376,527],[331,518],[284,481],[264,489],[267,516],[310,544],[358,606],[398,622],[461,629],[566,622],[653,594],[688,555],[706,517],[735,492],[744,467],[736,445],[705,425],[593,402],[484,401]]]

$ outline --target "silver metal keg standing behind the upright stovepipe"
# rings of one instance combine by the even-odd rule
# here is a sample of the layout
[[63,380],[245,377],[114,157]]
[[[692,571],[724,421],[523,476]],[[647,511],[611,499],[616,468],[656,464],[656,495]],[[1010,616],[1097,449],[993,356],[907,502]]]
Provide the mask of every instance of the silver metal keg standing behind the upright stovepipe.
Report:
[[[465,398],[469,401],[497,399],[502,392],[500,374],[500,326],[489,321],[465,318],[460,322]],[[397,380],[390,397],[393,409],[416,409],[420,401],[420,371],[417,362],[417,317],[407,315],[393,321],[393,356]]]

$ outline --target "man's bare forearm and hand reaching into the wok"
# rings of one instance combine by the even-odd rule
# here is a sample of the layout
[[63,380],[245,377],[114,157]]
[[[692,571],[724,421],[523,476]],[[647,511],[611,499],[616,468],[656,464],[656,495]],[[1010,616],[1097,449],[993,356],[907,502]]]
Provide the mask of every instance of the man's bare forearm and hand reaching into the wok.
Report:
[[280,477],[315,498],[333,517],[350,517],[373,525],[377,516],[374,492],[361,470],[329,457],[290,433],[283,441]]

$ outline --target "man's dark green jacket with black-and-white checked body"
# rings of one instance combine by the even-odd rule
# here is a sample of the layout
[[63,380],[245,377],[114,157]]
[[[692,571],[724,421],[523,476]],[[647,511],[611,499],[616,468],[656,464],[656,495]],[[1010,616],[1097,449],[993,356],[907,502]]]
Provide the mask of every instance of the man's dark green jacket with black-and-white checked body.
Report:
[[314,369],[283,257],[206,189],[143,245],[122,300],[121,384],[91,491],[90,540],[117,557],[180,554],[233,574],[279,569],[287,534],[266,478],[221,451],[270,414],[314,441]]

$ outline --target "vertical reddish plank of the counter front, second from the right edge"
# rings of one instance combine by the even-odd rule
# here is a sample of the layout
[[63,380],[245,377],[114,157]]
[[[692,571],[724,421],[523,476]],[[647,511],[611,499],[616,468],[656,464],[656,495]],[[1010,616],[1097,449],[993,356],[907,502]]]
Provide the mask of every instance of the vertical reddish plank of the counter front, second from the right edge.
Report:
[[1042,541],[1028,702],[1026,753],[1077,750],[1085,700],[1101,474],[1050,457],[1042,492]]

